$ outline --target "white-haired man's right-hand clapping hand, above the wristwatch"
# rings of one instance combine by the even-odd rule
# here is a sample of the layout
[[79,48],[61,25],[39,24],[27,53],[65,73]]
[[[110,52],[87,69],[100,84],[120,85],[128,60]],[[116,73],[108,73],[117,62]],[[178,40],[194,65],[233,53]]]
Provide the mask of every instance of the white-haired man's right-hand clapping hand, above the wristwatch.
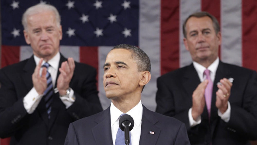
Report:
[[57,89],[61,96],[66,95],[66,90],[69,88],[74,69],[75,62],[73,58],[68,58],[68,62],[62,62],[61,68],[59,68],[60,75],[57,80]]

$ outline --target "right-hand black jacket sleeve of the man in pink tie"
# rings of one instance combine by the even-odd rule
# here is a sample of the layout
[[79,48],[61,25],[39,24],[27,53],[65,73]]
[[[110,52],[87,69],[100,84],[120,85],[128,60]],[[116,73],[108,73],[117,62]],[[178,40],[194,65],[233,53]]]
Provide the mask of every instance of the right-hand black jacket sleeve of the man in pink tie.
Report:
[[[233,86],[232,86],[233,88]],[[249,75],[242,104],[231,102],[230,120],[227,124],[231,133],[239,133],[241,137],[249,140],[257,139],[257,75],[253,71]],[[231,94],[230,97],[233,97]]]

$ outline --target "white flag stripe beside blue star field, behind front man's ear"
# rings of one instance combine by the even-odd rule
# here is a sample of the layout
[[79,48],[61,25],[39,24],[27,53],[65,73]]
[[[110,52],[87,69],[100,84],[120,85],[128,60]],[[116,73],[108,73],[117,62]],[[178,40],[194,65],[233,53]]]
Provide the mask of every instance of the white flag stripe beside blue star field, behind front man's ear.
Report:
[[160,1],[139,2],[139,48],[150,58],[152,76],[142,92],[141,100],[148,109],[155,111],[156,80],[160,76]]

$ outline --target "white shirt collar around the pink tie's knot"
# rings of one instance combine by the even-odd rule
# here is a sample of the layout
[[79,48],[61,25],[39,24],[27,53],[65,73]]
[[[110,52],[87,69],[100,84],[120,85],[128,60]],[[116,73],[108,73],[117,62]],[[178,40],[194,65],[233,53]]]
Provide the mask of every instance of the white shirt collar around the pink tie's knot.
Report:
[[[201,65],[195,61],[193,61],[193,65],[194,65],[197,73],[200,74],[201,77],[203,77],[204,71],[206,70],[206,68],[203,65]],[[207,69],[210,71],[210,73],[212,75],[215,75],[218,65],[219,65],[219,58],[217,57],[217,59]]]

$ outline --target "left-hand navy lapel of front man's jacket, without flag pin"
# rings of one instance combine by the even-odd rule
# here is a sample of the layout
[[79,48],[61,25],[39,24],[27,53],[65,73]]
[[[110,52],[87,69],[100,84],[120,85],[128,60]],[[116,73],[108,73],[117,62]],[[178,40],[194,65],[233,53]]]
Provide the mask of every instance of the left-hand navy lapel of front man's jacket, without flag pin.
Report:
[[96,144],[113,144],[111,130],[110,107],[95,119],[97,125],[92,128]]

